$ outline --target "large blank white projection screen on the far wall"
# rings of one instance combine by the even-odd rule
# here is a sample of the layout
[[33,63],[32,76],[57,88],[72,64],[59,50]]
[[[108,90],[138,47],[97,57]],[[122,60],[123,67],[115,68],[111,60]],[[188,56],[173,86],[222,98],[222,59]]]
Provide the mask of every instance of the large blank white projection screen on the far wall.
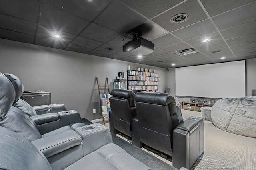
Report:
[[175,95],[203,98],[245,96],[245,61],[175,68]]

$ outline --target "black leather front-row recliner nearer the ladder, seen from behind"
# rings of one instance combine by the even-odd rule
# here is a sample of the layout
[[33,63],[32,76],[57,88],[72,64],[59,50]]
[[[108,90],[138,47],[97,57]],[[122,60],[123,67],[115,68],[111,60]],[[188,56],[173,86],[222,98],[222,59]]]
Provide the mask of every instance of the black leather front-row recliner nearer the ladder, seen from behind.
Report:
[[116,89],[110,93],[110,131],[132,137],[132,121],[136,118],[135,93],[130,90]]

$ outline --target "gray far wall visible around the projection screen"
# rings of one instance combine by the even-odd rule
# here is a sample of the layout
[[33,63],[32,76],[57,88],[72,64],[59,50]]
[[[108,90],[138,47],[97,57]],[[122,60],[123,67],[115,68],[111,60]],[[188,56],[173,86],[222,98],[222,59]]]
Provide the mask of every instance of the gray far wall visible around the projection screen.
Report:
[[[252,96],[252,89],[256,89],[256,58],[246,59],[246,96]],[[235,73],[234,73],[235,74]],[[170,88],[170,94],[175,95],[175,69],[169,68],[166,74],[166,87]],[[180,101],[190,101],[190,98],[180,98]]]

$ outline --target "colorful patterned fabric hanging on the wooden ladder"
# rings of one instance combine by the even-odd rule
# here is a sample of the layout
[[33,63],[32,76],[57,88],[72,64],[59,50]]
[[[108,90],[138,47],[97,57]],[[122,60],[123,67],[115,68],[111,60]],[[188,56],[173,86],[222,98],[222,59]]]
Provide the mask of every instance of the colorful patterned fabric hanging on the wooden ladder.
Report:
[[111,111],[109,98],[113,97],[110,94],[100,94],[100,102],[101,102],[101,113],[102,118],[104,120],[108,120],[109,112]]

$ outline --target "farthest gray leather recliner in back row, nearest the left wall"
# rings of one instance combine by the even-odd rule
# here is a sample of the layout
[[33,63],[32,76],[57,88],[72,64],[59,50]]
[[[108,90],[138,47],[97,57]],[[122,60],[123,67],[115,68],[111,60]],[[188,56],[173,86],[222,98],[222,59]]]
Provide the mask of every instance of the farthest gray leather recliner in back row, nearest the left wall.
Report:
[[50,104],[34,107],[30,106],[30,104],[28,104],[26,101],[20,99],[24,91],[24,87],[21,80],[17,76],[10,73],[4,73],[4,75],[9,78],[15,89],[16,97],[13,106],[21,109],[22,111],[24,111],[24,113],[27,113],[29,116],[67,111],[66,106],[64,104]]

